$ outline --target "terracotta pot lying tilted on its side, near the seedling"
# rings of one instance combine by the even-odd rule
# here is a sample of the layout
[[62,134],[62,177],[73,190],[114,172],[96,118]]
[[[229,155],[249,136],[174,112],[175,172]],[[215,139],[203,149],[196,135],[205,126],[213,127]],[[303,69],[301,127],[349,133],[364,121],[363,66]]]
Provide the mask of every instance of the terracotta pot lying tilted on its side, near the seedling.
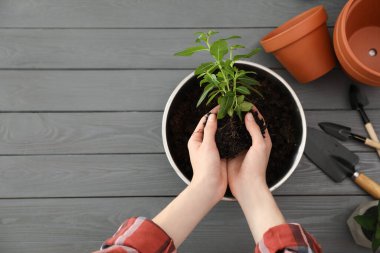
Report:
[[322,5],[290,19],[260,41],[300,83],[307,83],[335,66]]

